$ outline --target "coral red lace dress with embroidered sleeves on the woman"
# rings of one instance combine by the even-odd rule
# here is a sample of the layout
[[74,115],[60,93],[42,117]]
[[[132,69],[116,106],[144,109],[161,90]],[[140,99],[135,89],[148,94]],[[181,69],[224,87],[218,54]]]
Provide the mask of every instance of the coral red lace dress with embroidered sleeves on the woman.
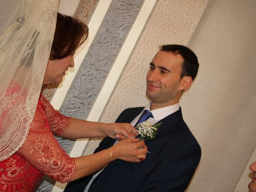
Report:
[[59,182],[69,182],[76,163],[60,147],[54,135],[68,128],[68,117],[60,114],[40,95],[32,126],[23,146],[0,162],[0,192],[34,191],[44,174]]

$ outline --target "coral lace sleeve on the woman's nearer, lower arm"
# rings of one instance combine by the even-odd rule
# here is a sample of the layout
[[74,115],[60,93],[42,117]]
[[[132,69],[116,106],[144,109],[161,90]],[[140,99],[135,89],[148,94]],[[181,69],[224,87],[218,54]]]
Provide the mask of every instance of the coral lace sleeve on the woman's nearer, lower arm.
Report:
[[74,158],[68,156],[54,138],[40,104],[28,138],[18,153],[32,166],[59,182],[69,182],[76,174]]

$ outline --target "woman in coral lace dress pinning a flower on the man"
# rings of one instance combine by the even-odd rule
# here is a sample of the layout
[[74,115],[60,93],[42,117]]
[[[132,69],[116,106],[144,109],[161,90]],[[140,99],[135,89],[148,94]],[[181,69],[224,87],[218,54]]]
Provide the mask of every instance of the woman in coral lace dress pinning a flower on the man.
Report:
[[[74,66],[74,51],[86,40],[87,34],[86,25],[69,16],[57,15],[43,84],[62,81],[65,71]],[[15,95],[23,89],[17,81],[12,82],[6,95]],[[18,96],[12,103],[22,99],[22,95]],[[96,154],[71,158],[53,134],[69,139],[105,136],[128,139]],[[44,174],[59,182],[69,182],[92,174],[116,159],[140,162],[141,158],[146,158],[147,148],[143,141],[138,142],[139,139],[134,138],[136,134],[137,131],[130,124],[104,124],[68,118],[54,110],[40,94],[25,142],[12,156],[0,162],[0,189],[2,192],[34,191]]]

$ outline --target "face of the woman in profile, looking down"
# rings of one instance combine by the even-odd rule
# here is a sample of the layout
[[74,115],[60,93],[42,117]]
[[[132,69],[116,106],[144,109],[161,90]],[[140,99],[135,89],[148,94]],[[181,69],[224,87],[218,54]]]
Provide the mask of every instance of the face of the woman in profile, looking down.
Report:
[[62,59],[49,60],[43,84],[61,83],[66,70],[74,67],[74,54]]

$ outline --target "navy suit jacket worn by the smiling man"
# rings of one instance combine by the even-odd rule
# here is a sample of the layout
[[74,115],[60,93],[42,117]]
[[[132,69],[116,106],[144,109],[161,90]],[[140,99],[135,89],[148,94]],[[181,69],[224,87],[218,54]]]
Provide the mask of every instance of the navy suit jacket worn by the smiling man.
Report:
[[[128,108],[116,122],[131,122],[143,110]],[[183,192],[201,157],[201,148],[182,118],[181,108],[162,119],[156,137],[146,140],[146,159],[140,163],[115,160],[92,182],[89,192]],[[104,138],[95,152],[116,140]],[[90,165],[88,165],[90,166]],[[64,192],[83,192],[92,175],[70,182]]]

